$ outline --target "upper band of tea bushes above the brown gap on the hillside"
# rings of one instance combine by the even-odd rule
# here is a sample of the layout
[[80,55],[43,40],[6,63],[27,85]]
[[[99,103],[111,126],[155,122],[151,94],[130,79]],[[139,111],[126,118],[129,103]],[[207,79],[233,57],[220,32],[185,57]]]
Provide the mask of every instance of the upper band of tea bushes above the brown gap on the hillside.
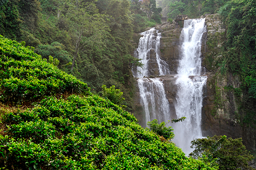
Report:
[[0,56],[0,101],[4,103],[21,104],[65,92],[90,93],[87,84],[3,36],[0,36]]

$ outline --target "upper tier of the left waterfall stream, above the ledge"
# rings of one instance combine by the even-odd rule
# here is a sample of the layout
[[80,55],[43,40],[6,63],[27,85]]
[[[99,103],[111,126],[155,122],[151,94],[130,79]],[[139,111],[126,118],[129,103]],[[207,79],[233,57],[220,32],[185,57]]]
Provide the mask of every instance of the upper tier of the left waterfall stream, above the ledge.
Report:
[[134,77],[148,77],[151,75],[162,76],[168,75],[168,64],[160,58],[160,38],[161,33],[152,28],[141,33],[138,48],[134,52],[134,57],[141,59],[143,68],[136,67],[133,69]]

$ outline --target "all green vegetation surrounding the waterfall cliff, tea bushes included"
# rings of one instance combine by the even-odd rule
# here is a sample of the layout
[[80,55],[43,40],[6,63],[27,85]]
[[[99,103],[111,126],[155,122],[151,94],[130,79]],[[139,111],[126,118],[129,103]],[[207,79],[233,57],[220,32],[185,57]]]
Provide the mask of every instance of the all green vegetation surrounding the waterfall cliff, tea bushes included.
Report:
[[250,169],[241,139],[192,141],[188,158],[162,134],[172,129],[143,129],[127,112],[131,69],[143,66],[136,33],[162,16],[214,13],[226,27],[215,64],[239,75],[241,87],[228,88],[243,95],[241,124],[255,127],[254,0],[0,1],[0,169]]

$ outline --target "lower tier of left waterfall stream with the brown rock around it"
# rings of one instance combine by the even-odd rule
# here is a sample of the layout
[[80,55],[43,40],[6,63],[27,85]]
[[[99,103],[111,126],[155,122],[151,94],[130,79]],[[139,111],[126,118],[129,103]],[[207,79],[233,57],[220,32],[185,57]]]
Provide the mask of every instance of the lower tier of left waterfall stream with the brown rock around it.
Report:
[[[135,84],[134,114],[142,127],[146,127],[146,123],[154,118],[158,119],[159,122],[167,122],[171,118],[177,118],[175,113],[176,79],[173,75],[154,79],[137,79]],[[150,92],[149,90],[152,91]],[[140,91],[142,91],[142,94]],[[159,96],[163,91],[164,94]],[[156,102],[153,96],[156,96],[156,99],[160,100],[160,102]],[[148,101],[148,104],[144,104],[146,101]],[[147,105],[148,109],[144,109],[145,105]],[[148,116],[146,116],[147,111],[150,113]]]

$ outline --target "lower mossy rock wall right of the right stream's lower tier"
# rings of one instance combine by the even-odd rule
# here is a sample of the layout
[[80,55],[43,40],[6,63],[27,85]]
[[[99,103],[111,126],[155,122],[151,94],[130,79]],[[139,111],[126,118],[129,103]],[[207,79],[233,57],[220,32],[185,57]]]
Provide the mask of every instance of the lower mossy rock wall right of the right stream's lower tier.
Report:
[[202,109],[203,136],[242,137],[236,96],[228,89],[240,85],[238,77],[228,73],[222,75],[220,70],[208,72],[207,76],[207,92]]

